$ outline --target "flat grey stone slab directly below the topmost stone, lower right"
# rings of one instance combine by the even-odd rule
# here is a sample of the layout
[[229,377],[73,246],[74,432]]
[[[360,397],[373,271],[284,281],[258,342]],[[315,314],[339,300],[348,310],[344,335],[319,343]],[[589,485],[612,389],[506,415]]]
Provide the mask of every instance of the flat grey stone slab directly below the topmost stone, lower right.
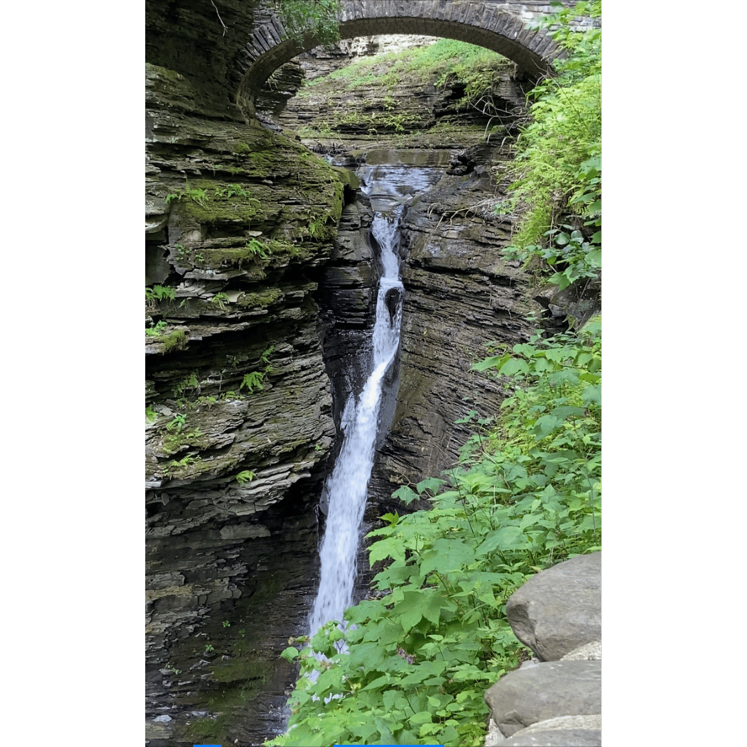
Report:
[[593,716],[602,711],[602,663],[551,661],[515,669],[488,689],[485,701],[506,737],[558,716]]

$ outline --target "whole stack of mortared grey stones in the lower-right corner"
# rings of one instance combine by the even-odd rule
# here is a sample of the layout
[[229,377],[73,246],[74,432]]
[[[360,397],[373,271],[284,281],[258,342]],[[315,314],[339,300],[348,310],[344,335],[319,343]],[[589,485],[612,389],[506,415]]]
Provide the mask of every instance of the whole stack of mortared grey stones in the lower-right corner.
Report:
[[486,692],[486,747],[601,746],[601,552],[541,571],[506,617],[536,659]]

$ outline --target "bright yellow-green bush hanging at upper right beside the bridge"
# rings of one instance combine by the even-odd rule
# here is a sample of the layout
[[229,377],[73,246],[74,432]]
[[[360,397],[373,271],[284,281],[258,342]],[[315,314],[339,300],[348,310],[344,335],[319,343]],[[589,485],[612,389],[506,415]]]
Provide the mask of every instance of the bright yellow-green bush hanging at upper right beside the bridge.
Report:
[[531,94],[533,122],[507,173],[511,198],[496,208],[520,216],[507,254],[552,270],[560,288],[601,269],[601,28],[569,31],[577,15],[601,18],[601,1],[560,10],[542,24],[561,24],[552,35],[568,57]]

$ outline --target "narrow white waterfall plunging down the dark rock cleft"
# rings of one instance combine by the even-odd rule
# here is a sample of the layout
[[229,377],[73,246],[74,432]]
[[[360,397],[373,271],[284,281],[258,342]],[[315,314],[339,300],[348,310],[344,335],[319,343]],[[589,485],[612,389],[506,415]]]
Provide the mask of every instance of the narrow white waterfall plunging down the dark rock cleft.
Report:
[[381,247],[383,266],[373,326],[373,371],[357,399],[353,393],[346,403],[341,421],[342,447],[325,486],[327,520],[319,553],[319,590],[309,617],[311,636],[330,620],[342,622],[345,608],[353,604],[356,556],[373,468],[382,382],[400,344],[403,285],[396,249],[402,209],[397,205],[388,214],[376,212],[371,226]]

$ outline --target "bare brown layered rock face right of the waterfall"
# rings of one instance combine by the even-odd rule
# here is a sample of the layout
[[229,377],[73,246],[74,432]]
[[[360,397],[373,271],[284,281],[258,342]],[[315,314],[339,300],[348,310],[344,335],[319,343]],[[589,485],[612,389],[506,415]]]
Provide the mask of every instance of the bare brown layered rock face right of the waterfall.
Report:
[[518,263],[500,255],[511,226],[492,215],[499,197],[492,170],[506,155],[484,143],[471,148],[480,151],[480,166],[462,176],[444,171],[403,219],[400,384],[371,480],[371,520],[376,507],[396,506],[390,496],[398,486],[438,476],[456,462],[473,432],[471,425],[455,425],[457,419],[472,409],[479,417],[495,415],[503,391],[471,365],[486,357],[489,341],[528,339],[524,317],[540,309]]

